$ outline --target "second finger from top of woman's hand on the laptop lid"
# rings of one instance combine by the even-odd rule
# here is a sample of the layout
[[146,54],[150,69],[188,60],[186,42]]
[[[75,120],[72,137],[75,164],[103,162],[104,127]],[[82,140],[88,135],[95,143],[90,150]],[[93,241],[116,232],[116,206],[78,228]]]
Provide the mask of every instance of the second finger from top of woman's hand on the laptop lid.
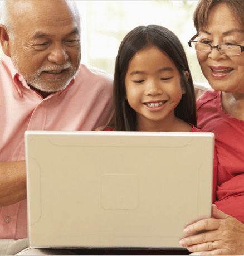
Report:
[[216,241],[216,238],[218,238],[220,235],[221,235],[221,233],[219,230],[203,232],[203,233],[199,233],[197,235],[191,235],[191,236],[182,238],[179,241],[179,243],[182,246],[191,246],[191,245],[196,245],[196,244],[202,244],[202,243],[207,243],[209,241],[211,241],[211,242]]

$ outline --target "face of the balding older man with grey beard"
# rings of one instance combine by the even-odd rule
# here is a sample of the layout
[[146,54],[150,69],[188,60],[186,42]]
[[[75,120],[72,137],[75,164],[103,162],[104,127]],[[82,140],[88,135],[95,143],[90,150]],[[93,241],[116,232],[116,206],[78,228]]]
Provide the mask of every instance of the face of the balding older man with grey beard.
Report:
[[27,0],[14,8],[23,10],[9,54],[17,71],[38,90],[64,89],[80,66],[79,18],[60,0]]

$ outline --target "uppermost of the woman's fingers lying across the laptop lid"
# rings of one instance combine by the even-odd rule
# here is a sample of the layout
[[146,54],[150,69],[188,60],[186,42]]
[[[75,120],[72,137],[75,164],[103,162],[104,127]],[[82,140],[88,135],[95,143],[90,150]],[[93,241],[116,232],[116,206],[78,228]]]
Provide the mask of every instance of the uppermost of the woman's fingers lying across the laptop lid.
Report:
[[218,229],[220,226],[220,221],[218,219],[204,219],[204,220],[199,220],[196,223],[193,223],[189,226],[187,226],[184,229],[184,233],[186,234],[193,234],[202,230],[215,230]]

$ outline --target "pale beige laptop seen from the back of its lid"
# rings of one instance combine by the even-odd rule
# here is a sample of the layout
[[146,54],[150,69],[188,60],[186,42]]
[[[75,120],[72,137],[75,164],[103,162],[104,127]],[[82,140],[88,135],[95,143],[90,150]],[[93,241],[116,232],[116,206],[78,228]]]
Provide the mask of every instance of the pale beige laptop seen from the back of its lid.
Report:
[[213,133],[26,131],[30,246],[180,248],[211,216],[213,148]]

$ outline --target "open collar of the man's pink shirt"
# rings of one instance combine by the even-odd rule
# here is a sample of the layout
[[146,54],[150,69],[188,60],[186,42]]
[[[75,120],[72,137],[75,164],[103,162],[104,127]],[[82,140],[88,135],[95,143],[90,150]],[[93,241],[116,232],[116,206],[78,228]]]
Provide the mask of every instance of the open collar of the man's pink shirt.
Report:
[[[26,83],[26,80],[23,78],[23,76],[18,73],[18,71],[14,67],[13,62],[12,62],[10,57],[4,55],[3,56],[3,62],[4,62],[4,64],[6,64],[6,68],[9,70],[9,72],[12,76],[14,88],[16,89],[19,97],[23,98],[23,94],[22,94],[22,91],[21,91],[21,85],[28,88],[28,89],[30,89],[30,87]],[[59,98],[65,91],[67,91],[72,85],[74,85],[74,83],[75,83],[75,78],[72,78],[69,85],[67,85],[67,87],[64,90],[59,91],[57,93],[53,93],[51,95],[55,95],[55,94],[59,93],[59,95],[58,95],[58,98]]]

